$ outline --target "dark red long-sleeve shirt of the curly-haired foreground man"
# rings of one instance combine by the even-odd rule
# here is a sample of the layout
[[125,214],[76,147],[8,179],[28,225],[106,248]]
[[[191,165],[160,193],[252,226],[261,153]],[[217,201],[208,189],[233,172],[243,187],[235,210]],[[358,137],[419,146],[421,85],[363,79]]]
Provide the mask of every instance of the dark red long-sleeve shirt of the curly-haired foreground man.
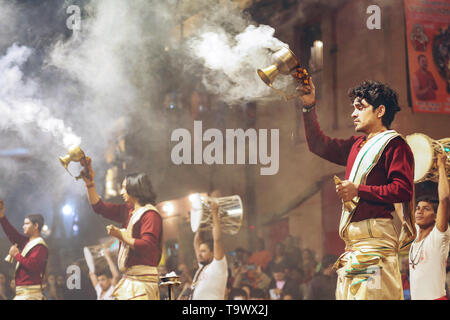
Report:
[[[315,110],[304,113],[303,119],[309,150],[328,161],[346,166],[345,179],[348,180],[366,137],[327,137],[320,129]],[[411,200],[413,190],[414,157],[408,144],[401,137],[396,137],[387,144],[378,163],[367,176],[366,184],[359,185],[360,201],[351,221],[392,219],[393,204]]]

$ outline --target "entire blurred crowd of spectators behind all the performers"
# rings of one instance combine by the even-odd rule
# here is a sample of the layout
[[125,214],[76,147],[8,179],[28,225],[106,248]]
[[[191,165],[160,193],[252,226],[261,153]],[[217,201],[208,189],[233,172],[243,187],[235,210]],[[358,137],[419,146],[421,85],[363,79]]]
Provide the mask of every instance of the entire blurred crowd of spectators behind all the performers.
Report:
[[[172,250],[160,269],[160,275],[175,271],[180,276],[181,285],[175,287],[176,299],[188,299],[192,278],[198,267],[194,259],[185,263],[179,252]],[[227,252],[228,281],[225,300],[334,300],[336,272],[333,265],[337,256],[324,254],[318,257],[314,250],[302,248],[297,238],[288,236],[273,250],[264,247],[259,239],[258,248],[251,252],[237,247]],[[410,299],[408,255],[400,256],[402,284],[405,300]],[[64,271],[49,271],[46,276],[44,294],[48,300],[95,300],[95,289],[80,263],[80,288],[69,289],[69,274]],[[96,270],[98,276],[111,278],[109,270]],[[447,296],[450,285],[450,258],[447,260]],[[0,264],[0,300],[11,300],[15,293],[11,268]],[[168,299],[167,288],[161,288],[161,299]]]

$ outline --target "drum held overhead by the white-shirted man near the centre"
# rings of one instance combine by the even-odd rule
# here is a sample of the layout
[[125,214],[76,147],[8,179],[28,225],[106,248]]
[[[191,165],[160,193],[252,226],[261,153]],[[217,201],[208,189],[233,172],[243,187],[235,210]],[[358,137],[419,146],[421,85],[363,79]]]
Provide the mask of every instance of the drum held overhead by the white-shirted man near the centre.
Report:
[[208,200],[210,200],[217,202],[222,232],[231,235],[238,233],[244,213],[242,200],[239,196],[211,198],[197,193],[192,195],[190,200],[192,204],[191,229],[193,232],[212,229],[211,209],[208,204]]

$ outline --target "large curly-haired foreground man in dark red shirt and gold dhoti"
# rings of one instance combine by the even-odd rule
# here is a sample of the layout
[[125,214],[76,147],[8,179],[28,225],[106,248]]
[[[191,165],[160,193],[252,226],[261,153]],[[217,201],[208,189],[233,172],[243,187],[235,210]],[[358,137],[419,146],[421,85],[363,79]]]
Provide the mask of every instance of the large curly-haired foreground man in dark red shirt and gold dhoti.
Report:
[[[324,135],[317,121],[312,80],[297,90],[309,149],[346,166],[345,180],[336,185],[344,202],[339,234],[346,244],[335,264],[336,299],[403,299],[398,250],[415,237],[414,159],[404,139],[389,130],[400,110],[397,94],[374,81],[350,89],[355,131],[364,135],[333,139]],[[402,203],[403,209],[400,237],[393,224],[395,203]]]

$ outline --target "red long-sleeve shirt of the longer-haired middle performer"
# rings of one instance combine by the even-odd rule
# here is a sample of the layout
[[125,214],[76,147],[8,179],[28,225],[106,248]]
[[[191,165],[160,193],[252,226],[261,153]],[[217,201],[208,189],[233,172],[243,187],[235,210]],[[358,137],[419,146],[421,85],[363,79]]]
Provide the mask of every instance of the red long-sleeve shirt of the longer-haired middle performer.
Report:
[[[92,208],[103,217],[121,223],[122,228],[128,226],[133,211],[129,204],[103,202],[101,199]],[[162,254],[161,216],[156,211],[146,211],[134,224],[132,237],[135,239],[134,249],[130,248],[126,266],[158,266]]]

